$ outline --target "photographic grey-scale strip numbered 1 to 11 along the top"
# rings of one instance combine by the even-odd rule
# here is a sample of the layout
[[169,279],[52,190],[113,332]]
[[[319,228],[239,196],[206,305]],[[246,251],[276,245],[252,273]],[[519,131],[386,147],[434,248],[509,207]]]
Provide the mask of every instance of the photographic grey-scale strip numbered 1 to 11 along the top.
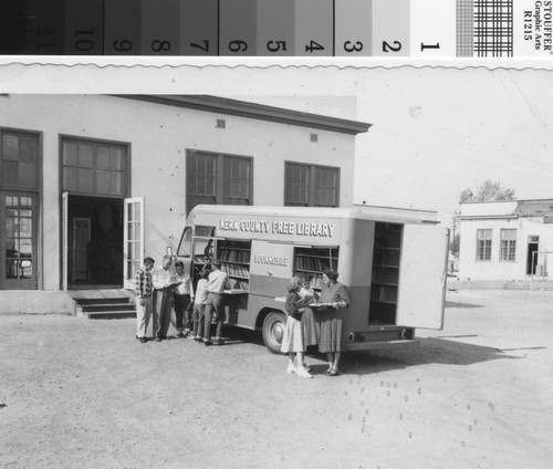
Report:
[[0,54],[546,58],[551,0],[0,0]]

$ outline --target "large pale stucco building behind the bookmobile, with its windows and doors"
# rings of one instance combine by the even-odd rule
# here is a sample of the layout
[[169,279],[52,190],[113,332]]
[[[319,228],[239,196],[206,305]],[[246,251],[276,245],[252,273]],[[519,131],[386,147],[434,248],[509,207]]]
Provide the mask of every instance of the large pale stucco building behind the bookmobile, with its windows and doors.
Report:
[[0,308],[131,288],[197,204],[351,206],[368,127],[216,96],[2,95]]

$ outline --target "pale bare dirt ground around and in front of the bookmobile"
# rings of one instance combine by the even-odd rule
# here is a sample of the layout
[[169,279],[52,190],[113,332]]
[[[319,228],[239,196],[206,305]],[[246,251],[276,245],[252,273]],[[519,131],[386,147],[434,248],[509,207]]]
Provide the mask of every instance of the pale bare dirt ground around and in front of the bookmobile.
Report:
[[0,315],[2,468],[551,468],[553,293],[449,292],[415,346],[285,373],[247,331]]

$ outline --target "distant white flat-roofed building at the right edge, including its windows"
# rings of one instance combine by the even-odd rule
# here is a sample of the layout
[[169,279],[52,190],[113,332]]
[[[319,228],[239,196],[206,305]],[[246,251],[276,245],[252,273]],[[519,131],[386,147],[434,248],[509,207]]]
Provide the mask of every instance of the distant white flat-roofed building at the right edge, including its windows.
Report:
[[461,204],[459,219],[460,280],[522,280],[553,270],[553,199]]

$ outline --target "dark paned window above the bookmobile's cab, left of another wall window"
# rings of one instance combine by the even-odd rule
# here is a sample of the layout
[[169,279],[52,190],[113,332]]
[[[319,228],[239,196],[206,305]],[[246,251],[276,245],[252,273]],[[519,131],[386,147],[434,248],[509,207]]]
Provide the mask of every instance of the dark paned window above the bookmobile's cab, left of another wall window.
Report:
[[187,212],[199,204],[252,205],[252,158],[189,150]]

